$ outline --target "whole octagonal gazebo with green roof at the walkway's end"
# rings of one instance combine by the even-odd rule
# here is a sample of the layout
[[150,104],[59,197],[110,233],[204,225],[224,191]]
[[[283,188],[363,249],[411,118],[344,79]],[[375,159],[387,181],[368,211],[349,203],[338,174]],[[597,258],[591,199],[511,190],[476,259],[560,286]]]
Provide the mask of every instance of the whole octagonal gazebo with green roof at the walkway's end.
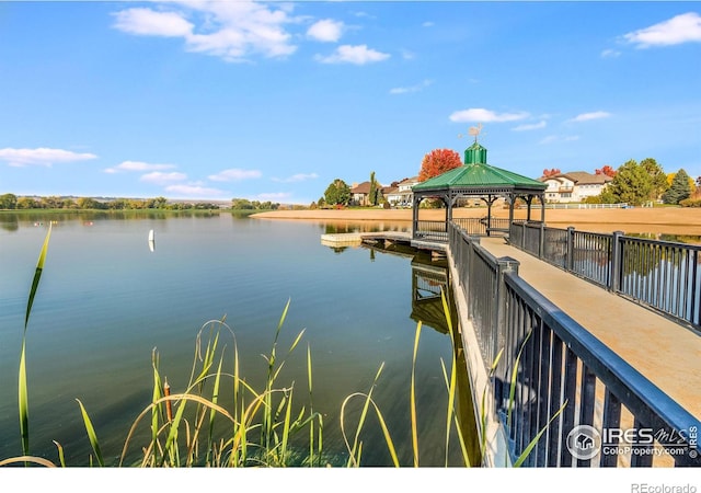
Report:
[[[470,233],[493,232],[508,233],[508,226],[514,221],[516,198],[526,200],[527,220],[531,220],[531,204],[538,198],[541,204],[540,221],[545,221],[545,188],[548,185],[520,174],[513,173],[486,163],[486,149],[476,141],[464,151],[464,164],[447,171],[438,176],[414,185],[412,238],[415,241],[447,242],[448,222],[452,221],[452,209],[459,199],[479,198],[486,204],[486,218],[478,219],[481,230]],[[492,218],[492,206],[496,199],[504,197],[508,204],[508,226],[496,227]],[[426,198],[440,199],[445,206],[445,222],[420,220],[420,206]],[[503,219],[501,222],[503,223]]]

